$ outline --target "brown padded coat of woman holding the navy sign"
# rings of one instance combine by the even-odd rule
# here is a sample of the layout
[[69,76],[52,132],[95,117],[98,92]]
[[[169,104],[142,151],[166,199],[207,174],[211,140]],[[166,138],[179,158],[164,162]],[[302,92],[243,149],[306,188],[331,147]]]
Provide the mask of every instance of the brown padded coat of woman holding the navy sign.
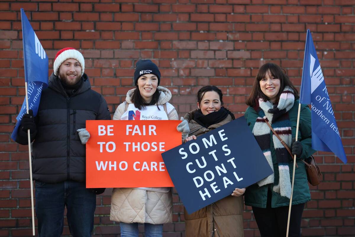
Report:
[[[196,111],[193,110],[184,117],[189,122],[189,136],[201,136],[232,121],[232,117],[228,115],[223,121],[205,128],[193,120]],[[190,215],[184,208],[186,237],[244,237],[243,210],[243,197],[232,195]]]

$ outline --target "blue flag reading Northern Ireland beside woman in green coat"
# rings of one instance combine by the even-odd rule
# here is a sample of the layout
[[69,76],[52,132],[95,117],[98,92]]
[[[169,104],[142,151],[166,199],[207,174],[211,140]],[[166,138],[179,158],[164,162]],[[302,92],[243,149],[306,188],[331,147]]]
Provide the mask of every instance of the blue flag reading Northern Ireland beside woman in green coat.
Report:
[[346,164],[342,139],[309,29],[303,61],[300,103],[311,105],[312,148],[331,151]]

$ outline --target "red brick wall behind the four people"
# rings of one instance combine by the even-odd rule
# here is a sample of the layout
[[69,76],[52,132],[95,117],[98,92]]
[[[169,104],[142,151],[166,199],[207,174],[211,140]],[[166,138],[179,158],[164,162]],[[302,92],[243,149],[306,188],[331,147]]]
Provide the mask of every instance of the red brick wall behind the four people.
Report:
[[[258,67],[275,62],[301,82],[306,29],[311,29],[336,111],[348,164],[319,152],[323,181],[311,187],[304,236],[355,236],[354,0],[56,0],[0,3],[0,236],[31,235],[27,147],[10,140],[24,96],[20,7],[49,56],[80,49],[93,89],[111,112],[132,88],[137,59],[153,59],[180,115],[212,84],[241,116]],[[50,73],[52,72],[50,68]],[[110,190],[97,197],[95,236],[118,236],[109,220]],[[183,206],[174,194],[174,223],[164,236],[184,237]],[[260,236],[248,207],[245,236]],[[67,227],[65,235],[69,234]]]

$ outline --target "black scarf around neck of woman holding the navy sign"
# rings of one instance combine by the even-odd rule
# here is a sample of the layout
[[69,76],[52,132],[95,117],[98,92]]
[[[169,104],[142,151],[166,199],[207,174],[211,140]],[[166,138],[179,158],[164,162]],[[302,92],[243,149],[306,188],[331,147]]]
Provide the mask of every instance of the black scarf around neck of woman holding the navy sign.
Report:
[[233,120],[235,118],[234,115],[224,107],[221,107],[218,111],[212,112],[211,114],[207,114],[207,115],[203,115],[202,111],[199,109],[195,112],[193,120],[195,120],[201,126],[208,128],[213,124],[221,122],[229,114],[232,116],[232,120]]

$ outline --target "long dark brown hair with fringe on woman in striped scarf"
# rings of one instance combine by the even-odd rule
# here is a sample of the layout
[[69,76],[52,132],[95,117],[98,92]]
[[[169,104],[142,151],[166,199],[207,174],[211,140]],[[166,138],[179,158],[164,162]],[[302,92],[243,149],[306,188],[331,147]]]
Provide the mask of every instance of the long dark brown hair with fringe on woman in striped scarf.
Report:
[[286,75],[286,71],[283,68],[279,67],[278,65],[269,62],[267,64],[262,65],[259,68],[258,74],[255,77],[255,81],[254,81],[253,87],[251,89],[251,93],[250,93],[248,99],[246,100],[247,105],[254,107],[256,105],[256,100],[258,98],[261,98],[264,101],[268,100],[268,97],[261,91],[260,81],[263,78],[265,78],[266,73],[268,73],[269,71],[273,77],[280,79],[280,91],[276,97],[277,103],[279,101],[281,93],[283,92],[283,90],[285,89],[286,86],[290,87],[293,90],[295,98],[298,96],[298,90],[292,84],[292,82],[290,81],[288,76]]

